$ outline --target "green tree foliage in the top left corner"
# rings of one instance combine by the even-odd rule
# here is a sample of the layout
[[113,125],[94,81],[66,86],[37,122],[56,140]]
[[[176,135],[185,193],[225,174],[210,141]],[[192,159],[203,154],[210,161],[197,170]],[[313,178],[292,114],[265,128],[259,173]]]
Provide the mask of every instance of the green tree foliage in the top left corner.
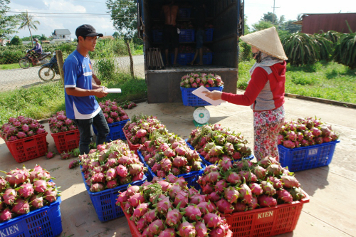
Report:
[[10,0],[0,0],[0,38],[7,38],[12,33],[16,33],[18,20],[16,16],[6,16],[9,11]]

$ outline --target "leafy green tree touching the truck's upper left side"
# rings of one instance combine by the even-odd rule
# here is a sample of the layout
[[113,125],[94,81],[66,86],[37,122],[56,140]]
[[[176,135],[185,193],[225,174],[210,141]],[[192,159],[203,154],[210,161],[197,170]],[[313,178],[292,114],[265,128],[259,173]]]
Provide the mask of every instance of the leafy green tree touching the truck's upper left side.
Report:
[[136,0],[107,0],[112,26],[119,31],[125,41],[131,40],[137,34],[137,6]]

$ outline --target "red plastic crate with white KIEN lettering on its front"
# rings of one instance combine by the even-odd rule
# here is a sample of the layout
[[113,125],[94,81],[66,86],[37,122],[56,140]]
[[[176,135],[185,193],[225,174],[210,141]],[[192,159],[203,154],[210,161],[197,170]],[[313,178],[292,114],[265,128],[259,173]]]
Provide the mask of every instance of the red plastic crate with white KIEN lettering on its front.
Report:
[[303,204],[309,202],[308,194],[304,191],[303,194],[305,194],[304,199],[293,201],[291,204],[281,204],[271,208],[266,207],[222,216],[226,218],[226,222],[234,233],[233,237],[266,237],[288,233],[297,226]]

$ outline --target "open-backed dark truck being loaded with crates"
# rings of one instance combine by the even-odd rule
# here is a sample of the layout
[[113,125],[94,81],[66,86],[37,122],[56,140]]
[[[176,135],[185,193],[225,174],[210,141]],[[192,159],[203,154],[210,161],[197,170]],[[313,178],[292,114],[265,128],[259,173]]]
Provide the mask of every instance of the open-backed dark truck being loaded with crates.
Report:
[[[195,46],[194,33],[192,30],[184,30],[183,26],[189,25],[194,19],[192,6],[196,1],[175,1],[179,5],[177,17],[177,27],[180,28],[179,46],[185,48],[194,48]],[[159,32],[157,28],[164,24],[164,17],[161,13],[163,4],[167,4],[167,0],[137,0],[138,35],[144,43],[147,102],[182,102],[180,81],[182,76],[192,72],[220,75],[224,81],[223,91],[236,93],[239,70],[239,36],[244,34],[244,0],[204,0],[206,21],[212,26],[212,29],[206,29],[206,33],[213,31],[212,37],[210,36],[209,40],[204,41],[204,47],[210,52],[208,61],[204,62],[204,65],[192,66],[187,64],[187,61],[179,60],[178,63],[181,63],[177,67],[162,66],[164,53],[162,53],[163,60],[160,57],[152,58],[153,51],[162,52],[162,41],[159,41],[162,31]],[[180,41],[182,33],[191,33],[192,38]],[[206,36],[208,37],[208,35]],[[180,59],[189,58],[189,56],[192,57],[192,53],[179,54]],[[152,67],[150,65],[152,61],[156,61],[157,65],[161,66]]]

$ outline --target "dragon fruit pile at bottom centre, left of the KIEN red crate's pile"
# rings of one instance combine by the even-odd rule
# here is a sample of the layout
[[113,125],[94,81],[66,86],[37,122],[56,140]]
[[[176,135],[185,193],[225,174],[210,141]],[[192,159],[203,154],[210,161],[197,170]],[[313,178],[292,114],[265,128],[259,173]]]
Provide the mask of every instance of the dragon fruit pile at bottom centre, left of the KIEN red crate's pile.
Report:
[[232,236],[216,206],[187,187],[183,177],[169,174],[155,177],[141,186],[129,186],[119,194],[117,204],[130,214],[142,236]]

